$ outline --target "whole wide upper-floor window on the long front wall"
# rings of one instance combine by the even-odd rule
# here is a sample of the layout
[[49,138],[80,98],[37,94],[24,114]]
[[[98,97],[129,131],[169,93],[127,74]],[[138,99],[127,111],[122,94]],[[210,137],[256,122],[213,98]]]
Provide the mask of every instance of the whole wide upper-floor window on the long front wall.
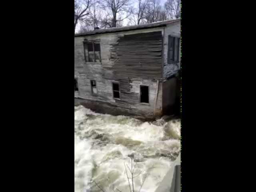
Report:
[[86,62],[101,62],[100,42],[84,41],[84,57]]

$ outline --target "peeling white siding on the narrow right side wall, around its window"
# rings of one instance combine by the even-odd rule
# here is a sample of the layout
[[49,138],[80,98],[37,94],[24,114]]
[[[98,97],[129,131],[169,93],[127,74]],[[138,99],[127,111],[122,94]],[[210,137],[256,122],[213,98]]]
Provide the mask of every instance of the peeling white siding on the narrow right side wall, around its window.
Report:
[[174,37],[180,37],[180,22],[169,24],[164,28],[164,67],[163,67],[163,77],[164,79],[176,74],[180,69],[180,62],[176,64],[168,64],[168,35]]

